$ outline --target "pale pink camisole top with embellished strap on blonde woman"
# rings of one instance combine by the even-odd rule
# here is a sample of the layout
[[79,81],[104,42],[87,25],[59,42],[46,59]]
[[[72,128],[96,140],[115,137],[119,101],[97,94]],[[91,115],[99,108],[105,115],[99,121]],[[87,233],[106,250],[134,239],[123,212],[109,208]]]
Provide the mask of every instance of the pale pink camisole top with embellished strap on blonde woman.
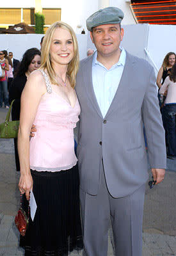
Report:
[[52,90],[49,77],[42,72],[47,92],[42,96],[35,116],[36,133],[30,140],[30,168],[58,172],[76,165],[74,127],[79,121],[80,106],[74,108]]

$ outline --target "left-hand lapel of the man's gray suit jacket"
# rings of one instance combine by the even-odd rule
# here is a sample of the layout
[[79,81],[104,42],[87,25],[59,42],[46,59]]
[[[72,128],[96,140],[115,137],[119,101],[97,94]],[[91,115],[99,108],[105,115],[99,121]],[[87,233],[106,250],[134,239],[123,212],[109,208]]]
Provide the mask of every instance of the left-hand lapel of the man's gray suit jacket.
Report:
[[[94,56],[94,54],[93,54]],[[92,84],[92,61],[93,61],[93,56],[88,58],[87,62],[84,63],[84,66],[82,68],[83,70],[83,81],[84,81],[84,86],[86,87],[86,92],[88,94],[88,98],[90,99],[90,102],[92,103],[93,108],[97,111],[99,116],[102,118],[102,113],[99,108],[99,104],[97,102],[95,92],[93,90],[93,84]]]

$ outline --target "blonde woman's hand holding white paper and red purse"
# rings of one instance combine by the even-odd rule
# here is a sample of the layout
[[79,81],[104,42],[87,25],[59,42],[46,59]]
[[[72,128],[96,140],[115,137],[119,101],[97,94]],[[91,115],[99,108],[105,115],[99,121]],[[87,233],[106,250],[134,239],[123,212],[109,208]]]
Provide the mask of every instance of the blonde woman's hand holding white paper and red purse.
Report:
[[19,190],[22,194],[26,193],[27,200],[29,200],[29,193],[31,189],[33,190],[33,178],[31,176],[31,173],[20,174]]

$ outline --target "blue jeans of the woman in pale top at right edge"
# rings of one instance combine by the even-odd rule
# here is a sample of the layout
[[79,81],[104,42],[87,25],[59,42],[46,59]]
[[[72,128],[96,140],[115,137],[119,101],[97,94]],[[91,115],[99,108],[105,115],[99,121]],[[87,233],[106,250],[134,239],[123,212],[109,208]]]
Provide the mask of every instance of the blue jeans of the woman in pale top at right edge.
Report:
[[164,106],[163,116],[168,132],[168,155],[176,156],[176,104]]

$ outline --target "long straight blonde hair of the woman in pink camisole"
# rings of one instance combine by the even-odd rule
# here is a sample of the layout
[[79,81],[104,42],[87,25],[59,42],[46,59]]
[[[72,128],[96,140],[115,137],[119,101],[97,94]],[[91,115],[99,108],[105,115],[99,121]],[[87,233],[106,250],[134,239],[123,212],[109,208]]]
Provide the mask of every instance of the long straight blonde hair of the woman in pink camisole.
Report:
[[54,34],[54,31],[57,28],[62,28],[70,32],[74,44],[74,57],[68,63],[67,68],[67,77],[70,81],[71,86],[74,88],[76,84],[76,74],[79,69],[79,52],[78,52],[78,45],[77,45],[77,38],[74,30],[65,22],[56,21],[54,22],[48,29],[44,36],[44,42],[42,44],[42,61],[40,68],[44,68],[47,70],[49,75],[49,79],[51,80],[52,84],[58,84],[56,81],[56,73],[54,68],[52,67],[51,63],[51,56],[50,56],[50,48],[51,48],[51,40]]

